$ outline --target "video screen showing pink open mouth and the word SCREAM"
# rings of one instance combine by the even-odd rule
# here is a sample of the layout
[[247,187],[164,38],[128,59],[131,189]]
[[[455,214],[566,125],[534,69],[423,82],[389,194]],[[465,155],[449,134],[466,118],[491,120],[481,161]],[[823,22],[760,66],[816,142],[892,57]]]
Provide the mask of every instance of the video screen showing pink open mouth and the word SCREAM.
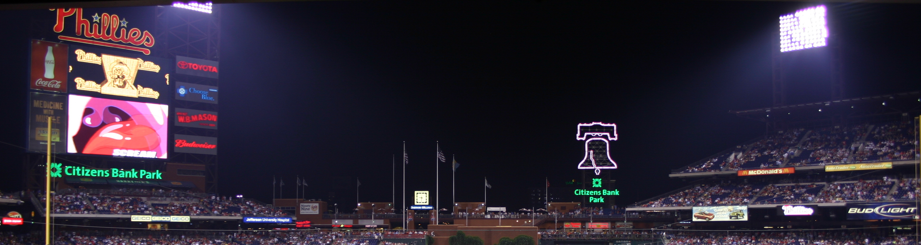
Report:
[[67,152],[166,159],[169,106],[69,95]]

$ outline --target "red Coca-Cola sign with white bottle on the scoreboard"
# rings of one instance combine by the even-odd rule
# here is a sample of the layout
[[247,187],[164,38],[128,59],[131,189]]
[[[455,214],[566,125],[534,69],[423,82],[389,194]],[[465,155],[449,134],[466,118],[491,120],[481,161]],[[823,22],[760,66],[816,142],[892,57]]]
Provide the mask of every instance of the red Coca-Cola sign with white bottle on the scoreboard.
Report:
[[67,45],[32,40],[31,89],[67,93]]

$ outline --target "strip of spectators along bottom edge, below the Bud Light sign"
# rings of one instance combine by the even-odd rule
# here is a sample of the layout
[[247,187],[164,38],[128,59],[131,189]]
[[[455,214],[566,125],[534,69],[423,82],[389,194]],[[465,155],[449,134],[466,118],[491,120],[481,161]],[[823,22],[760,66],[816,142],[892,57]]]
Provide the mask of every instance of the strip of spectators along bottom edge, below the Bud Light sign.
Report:
[[891,245],[917,244],[909,236],[882,236],[859,232],[689,232],[666,236],[669,245]]

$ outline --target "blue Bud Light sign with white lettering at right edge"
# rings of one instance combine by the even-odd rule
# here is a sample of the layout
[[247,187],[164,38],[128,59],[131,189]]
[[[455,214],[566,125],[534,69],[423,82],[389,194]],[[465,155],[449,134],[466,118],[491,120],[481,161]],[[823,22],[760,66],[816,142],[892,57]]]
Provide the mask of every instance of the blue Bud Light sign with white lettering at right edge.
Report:
[[914,202],[847,204],[847,219],[903,218],[918,218],[918,206]]

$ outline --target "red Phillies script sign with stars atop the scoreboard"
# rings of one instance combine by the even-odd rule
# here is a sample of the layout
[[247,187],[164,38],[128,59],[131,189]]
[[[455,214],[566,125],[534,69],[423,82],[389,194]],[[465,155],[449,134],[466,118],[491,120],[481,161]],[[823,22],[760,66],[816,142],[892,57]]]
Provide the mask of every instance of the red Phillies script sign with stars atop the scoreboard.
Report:
[[57,37],[58,39],[132,50],[144,55],[150,54],[150,49],[147,48],[154,47],[154,35],[146,29],[136,28],[138,23],[150,24],[137,21],[140,18],[138,16],[141,15],[128,15],[133,19],[132,22],[129,22],[128,17],[98,11],[99,9],[52,8],[50,10],[55,13],[53,30],[55,33],[62,34]]

